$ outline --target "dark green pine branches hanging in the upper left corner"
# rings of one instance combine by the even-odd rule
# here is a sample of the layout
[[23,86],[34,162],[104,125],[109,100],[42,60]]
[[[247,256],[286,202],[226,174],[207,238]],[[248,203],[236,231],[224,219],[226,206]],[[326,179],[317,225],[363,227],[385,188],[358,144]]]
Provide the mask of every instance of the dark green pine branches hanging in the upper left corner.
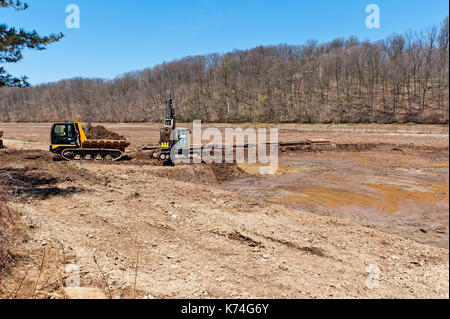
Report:
[[[1,8],[13,8],[16,11],[23,11],[28,8],[28,5],[21,0],[0,0]],[[24,49],[44,50],[46,46],[59,41],[62,37],[62,33],[41,37],[36,31],[17,30],[14,27],[0,23],[0,64],[16,63],[22,59],[22,51]],[[0,66],[0,87],[2,86],[28,86],[27,77],[14,77]]]

